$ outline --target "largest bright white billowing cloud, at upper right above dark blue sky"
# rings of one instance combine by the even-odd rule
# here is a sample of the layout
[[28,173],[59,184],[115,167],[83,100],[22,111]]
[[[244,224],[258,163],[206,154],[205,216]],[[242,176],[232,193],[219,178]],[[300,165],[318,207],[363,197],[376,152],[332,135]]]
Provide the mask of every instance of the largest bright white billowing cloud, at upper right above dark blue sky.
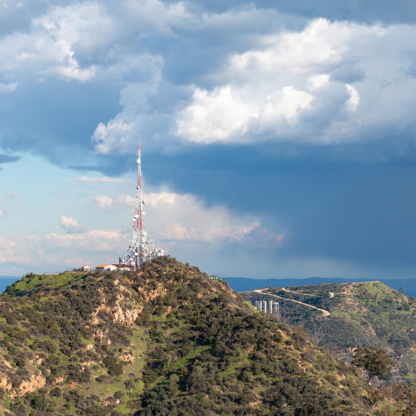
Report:
[[230,55],[216,87],[193,86],[172,132],[201,144],[341,144],[388,139],[398,125],[410,133],[414,35],[416,26],[316,19],[300,31],[260,36]]

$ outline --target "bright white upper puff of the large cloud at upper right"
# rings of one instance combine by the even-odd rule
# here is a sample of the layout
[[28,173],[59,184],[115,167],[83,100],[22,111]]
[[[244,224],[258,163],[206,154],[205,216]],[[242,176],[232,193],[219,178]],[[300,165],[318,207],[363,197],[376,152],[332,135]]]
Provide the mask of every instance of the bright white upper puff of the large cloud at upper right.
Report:
[[[284,31],[261,37],[256,50],[230,57],[230,72],[242,79],[330,71],[351,58],[351,47],[361,39],[386,35],[378,25],[313,20],[299,32]],[[355,51],[354,51],[355,52]]]

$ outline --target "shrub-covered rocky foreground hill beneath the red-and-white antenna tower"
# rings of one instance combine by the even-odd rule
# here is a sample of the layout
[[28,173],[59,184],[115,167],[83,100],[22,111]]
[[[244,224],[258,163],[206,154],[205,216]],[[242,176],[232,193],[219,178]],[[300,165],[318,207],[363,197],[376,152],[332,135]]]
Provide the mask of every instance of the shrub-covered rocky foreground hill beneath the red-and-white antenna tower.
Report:
[[[162,257],[139,273],[26,275],[0,296],[4,415],[383,415],[300,328]],[[389,410],[390,409],[390,410]],[[383,413],[384,412],[384,413]]]

